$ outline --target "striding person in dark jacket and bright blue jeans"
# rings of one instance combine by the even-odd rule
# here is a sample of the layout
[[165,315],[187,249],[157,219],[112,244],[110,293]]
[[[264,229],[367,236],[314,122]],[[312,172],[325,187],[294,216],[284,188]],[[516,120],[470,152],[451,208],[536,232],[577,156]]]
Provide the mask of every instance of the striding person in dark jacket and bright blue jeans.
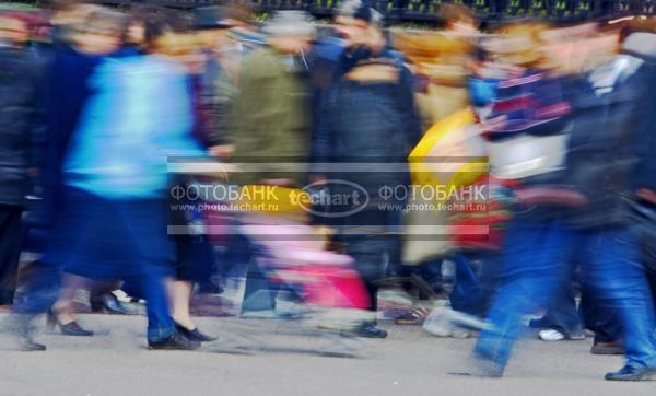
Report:
[[[613,32],[609,35],[614,36]],[[518,37],[508,39],[515,45],[520,43]],[[548,306],[546,299],[566,279],[566,263],[572,255],[584,264],[584,282],[594,290],[596,300],[605,307],[617,308],[622,323],[626,364],[606,374],[606,378],[641,381],[651,378],[655,372],[654,307],[640,265],[630,201],[625,199],[631,195],[635,164],[633,142],[641,128],[648,126],[642,123],[649,120],[644,98],[653,75],[639,57],[612,56],[614,45],[610,42],[611,56],[595,59],[596,67],[584,74],[577,85],[579,91],[569,103],[570,116],[563,118],[569,124],[570,138],[567,172],[560,184],[570,190],[536,184],[535,176],[544,173],[534,171],[537,165],[550,163],[546,161],[549,156],[543,156],[540,164],[527,158],[520,166],[507,168],[509,174],[523,173],[524,177],[515,178],[524,188],[516,191],[519,203],[505,234],[506,281],[489,314],[493,327],[481,333],[475,349],[478,374],[502,375],[519,330],[520,316],[537,306]],[[648,47],[630,48],[634,54]],[[520,59],[526,55],[508,54],[504,58]],[[529,82],[527,79],[523,83]],[[512,80],[500,84],[512,85]],[[554,90],[541,92],[537,97],[549,97]],[[511,116],[491,129],[509,131],[508,120],[517,123]],[[541,136],[559,124],[562,125],[541,123]],[[548,174],[550,183],[558,182],[554,177],[558,172]],[[534,178],[527,178],[528,175]],[[530,206],[532,210],[528,210]]]

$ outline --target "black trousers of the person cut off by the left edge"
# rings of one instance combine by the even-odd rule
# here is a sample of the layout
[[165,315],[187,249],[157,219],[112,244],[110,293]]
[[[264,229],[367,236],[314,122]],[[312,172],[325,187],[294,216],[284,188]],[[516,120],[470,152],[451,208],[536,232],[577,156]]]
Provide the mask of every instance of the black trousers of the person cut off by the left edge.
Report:
[[0,305],[11,304],[16,290],[22,212],[23,207],[0,205]]

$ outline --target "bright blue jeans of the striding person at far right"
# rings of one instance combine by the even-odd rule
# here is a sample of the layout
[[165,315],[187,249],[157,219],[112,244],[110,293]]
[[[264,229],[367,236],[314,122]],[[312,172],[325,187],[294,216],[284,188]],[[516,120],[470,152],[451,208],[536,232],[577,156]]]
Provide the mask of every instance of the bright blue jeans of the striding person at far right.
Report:
[[584,282],[600,303],[620,314],[626,363],[656,368],[654,306],[633,229],[581,231],[558,219],[515,219],[504,248],[503,287],[489,315],[493,329],[481,333],[475,348],[478,357],[507,364],[522,316],[548,306],[548,299],[567,279],[567,259],[576,253],[584,264]]

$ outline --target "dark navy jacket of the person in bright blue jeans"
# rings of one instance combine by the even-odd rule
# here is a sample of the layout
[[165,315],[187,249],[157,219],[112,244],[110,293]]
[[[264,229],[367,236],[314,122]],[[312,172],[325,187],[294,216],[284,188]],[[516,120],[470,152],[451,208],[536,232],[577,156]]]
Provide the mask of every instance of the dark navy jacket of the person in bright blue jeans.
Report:
[[626,58],[630,66],[611,86],[593,86],[583,80],[572,98],[572,135],[566,184],[587,203],[571,209],[566,222],[574,228],[628,225],[639,163],[635,148],[649,124],[649,91],[655,74],[651,65]]

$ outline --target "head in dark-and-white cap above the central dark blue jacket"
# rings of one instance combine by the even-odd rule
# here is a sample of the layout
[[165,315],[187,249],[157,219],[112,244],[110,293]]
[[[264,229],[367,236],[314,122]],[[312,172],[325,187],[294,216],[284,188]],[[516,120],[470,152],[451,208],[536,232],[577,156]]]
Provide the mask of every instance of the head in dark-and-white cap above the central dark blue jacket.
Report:
[[335,18],[337,33],[348,47],[367,47],[378,50],[385,47],[380,24],[383,15],[362,0],[345,1]]

